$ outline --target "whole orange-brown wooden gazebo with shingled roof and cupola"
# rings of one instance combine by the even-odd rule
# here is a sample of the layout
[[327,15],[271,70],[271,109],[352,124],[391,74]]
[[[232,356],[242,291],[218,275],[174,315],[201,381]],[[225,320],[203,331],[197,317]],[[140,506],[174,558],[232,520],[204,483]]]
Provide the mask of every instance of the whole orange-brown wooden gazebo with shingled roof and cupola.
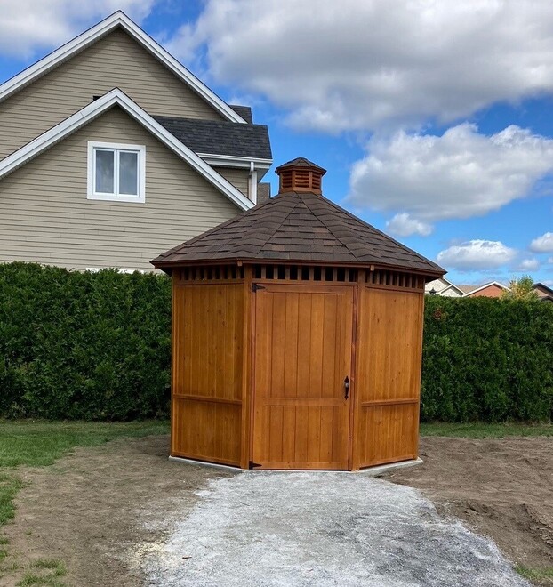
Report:
[[424,284],[445,271],[281,165],[276,197],[157,257],[172,456],[358,470],[417,457]]

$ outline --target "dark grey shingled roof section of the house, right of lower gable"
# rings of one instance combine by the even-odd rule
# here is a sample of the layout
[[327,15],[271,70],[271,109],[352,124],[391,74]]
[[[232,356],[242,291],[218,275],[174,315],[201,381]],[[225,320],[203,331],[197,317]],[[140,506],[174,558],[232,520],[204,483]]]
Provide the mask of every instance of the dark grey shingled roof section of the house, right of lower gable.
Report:
[[195,153],[272,160],[265,125],[236,125],[196,118],[154,118]]

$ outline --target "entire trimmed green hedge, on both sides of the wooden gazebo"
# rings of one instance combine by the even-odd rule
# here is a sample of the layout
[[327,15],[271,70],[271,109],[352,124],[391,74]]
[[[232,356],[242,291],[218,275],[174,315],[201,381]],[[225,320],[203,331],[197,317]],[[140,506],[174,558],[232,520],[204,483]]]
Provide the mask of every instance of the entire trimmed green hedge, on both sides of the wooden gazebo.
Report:
[[[166,417],[170,280],[0,265],[0,415]],[[427,297],[421,418],[549,421],[553,304]]]

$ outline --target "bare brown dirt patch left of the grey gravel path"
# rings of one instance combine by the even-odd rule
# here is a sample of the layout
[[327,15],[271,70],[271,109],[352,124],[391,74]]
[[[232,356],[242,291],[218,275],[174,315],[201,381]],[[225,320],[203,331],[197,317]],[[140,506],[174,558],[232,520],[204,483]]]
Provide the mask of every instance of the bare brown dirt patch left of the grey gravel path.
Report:
[[67,585],[143,585],[144,555],[193,508],[196,491],[228,475],[170,462],[168,445],[166,436],[114,440],[77,448],[51,467],[20,470],[26,487],[4,534],[9,561],[21,568],[0,585],[12,587],[41,558],[65,562]]

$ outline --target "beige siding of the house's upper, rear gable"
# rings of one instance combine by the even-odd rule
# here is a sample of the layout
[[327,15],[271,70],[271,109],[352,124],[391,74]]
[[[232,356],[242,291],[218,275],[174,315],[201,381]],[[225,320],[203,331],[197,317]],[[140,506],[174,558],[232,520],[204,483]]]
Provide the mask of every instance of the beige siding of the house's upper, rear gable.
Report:
[[221,115],[117,28],[0,102],[0,159],[114,87],[148,114],[221,120]]

